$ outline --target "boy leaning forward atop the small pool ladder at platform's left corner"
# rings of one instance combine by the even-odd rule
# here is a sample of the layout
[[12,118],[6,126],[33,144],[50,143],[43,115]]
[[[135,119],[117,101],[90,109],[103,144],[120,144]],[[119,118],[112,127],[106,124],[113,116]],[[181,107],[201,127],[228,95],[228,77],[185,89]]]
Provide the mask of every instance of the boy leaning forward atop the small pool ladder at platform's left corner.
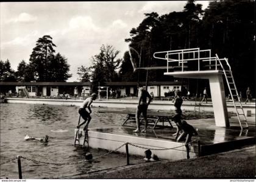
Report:
[[[81,125],[85,124],[84,130],[87,130],[87,127],[91,121],[91,103],[93,103],[93,100],[97,98],[97,94],[93,93],[91,94],[91,97],[88,97],[85,99],[85,101],[82,103],[81,107],[78,110],[78,113],[80,116],[84,119],[84,122],[81,124],[77,125],[77,128],[80,128]],[[86,110],[87,108],[87,110]]]

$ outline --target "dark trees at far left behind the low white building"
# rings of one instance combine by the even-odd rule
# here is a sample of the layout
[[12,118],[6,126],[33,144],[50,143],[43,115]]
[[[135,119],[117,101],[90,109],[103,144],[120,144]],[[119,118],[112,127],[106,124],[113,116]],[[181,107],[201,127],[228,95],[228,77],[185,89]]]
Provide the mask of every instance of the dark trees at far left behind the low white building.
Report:
[[60,53],[55,54],[52,37],[44,35],[37,43],[29,58],[29,63],[22,60],[13,71],[10,61],[0,61],[1,82],[65,82],[71,77],[66,58]]

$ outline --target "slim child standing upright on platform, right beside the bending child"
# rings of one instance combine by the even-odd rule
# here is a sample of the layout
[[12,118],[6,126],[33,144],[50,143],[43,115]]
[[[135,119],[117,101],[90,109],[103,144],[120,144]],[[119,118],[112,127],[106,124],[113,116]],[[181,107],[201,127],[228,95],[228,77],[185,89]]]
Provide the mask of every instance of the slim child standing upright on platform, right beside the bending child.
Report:
[[176,136],[175,140],[178,138],[179,132],[181,131],[181,116],[182,116],[182,110],[181,110],[181,105],[183,103],[182,100],[182,93],[181,91],[176,92],[176,98],[174,100],[174,107],[175,107],[175,115],[172,117],[172,120],[176,123],[177,125],[177,131],[173,135]]

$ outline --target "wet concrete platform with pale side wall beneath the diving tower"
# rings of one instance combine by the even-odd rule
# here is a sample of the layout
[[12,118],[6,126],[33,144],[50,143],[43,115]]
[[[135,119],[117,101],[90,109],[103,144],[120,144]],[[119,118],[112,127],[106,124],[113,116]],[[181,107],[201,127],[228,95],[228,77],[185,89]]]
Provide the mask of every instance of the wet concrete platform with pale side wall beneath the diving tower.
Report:
[[[255,144],[255,116],[247,117],[248,129],[241,130],[236,117],[230,118],[230,127],[216,127],[214,119],[192,119],[187,122],[198,129],[199,136],[193,136],[190,157],[210,155],[240,149],[246,145]],[[174,124],[175,125],[175,124]],[[141,126],[141,128],[143,125]],[[116,150],[126,153],[124,144],[129,142],[129,153],[144,156],[146,149],[151,149],[160,159],[185,159],[186,149],[182,142],[174,141],[174,128],[156,128],[152,126],[146,133],[133,133],[135,123],[115,128],[90,128],[88,131],[91,148]],[[76,130],[75,130],[76,131]],[[81,143],[84,138],[81,137]],[[198,142],[200,141],[200,147]]]

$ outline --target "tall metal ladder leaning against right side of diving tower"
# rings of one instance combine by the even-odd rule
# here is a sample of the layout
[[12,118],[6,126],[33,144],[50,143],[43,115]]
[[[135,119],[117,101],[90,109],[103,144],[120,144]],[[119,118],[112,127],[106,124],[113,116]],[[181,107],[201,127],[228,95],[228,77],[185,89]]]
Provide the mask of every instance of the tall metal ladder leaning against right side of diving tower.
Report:
[[[227,82],[227,86],[229,87],[229,93],[230,93],[230,96],[232,98],[233,105],[235,107],[235,112],[236,112],[236,116],[238,118],[240,127],[241,127],[242,130],[243,130],[243,128],[248,128],[246,116],[244,114],[243,106],[241,104],[241,100],[240,100],[238,91],[236,89],[235,80],[233,78],[233,74],[232,74],[229,62],[228,62],[227,58],[220,59],[217,54],[215,54],[215,55],[216,55],[217,60],[219,61],[219,65],[221,65],[221,68],[224,72],[226,82]],[[226,68],[226,69],[224,68],[224,65],[222,64],[222,61],[224,61],[224,63],[226,63],[228,68]],[[237,98],[238,102],[235,102],[234,97]],[[243,127],[242,122],[244,122],[246,124],[246,127]]]

